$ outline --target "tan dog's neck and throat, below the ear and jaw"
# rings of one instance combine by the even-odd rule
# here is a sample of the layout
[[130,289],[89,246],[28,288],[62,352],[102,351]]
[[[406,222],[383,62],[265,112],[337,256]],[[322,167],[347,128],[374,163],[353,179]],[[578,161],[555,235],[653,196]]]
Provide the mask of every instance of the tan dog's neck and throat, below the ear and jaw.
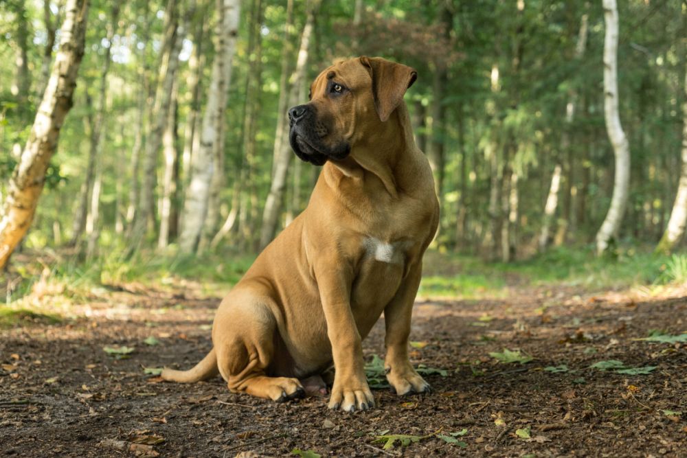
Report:
[[[343,174],[359,181],[361,185],[364,185],[365,180],[379,179],[393,198],[409,189],[412,183],[409,183],[408,178],[415,165],[414,154],[422,153],[415,145],[405,103],[398,106],[382,125],[383,128],[372,135],[374,145],[354,146],[346,159],[328,161],[323,173],[332,176],[332,184]],[[398,135],[399,129],[401,135]]]

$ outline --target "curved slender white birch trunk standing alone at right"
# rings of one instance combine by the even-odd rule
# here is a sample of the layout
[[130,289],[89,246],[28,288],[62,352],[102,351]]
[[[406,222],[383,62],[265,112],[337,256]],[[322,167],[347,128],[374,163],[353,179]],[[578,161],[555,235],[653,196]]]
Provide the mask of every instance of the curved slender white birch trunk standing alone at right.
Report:
[[603,47],[604,118],[616,157],[611,207],[596,234],[596,253],[602,255],[612,238],[617,238],[627,207],[630,185],[630,152],[618,113],[618,8],[616,0],[603,0],[606,35]]

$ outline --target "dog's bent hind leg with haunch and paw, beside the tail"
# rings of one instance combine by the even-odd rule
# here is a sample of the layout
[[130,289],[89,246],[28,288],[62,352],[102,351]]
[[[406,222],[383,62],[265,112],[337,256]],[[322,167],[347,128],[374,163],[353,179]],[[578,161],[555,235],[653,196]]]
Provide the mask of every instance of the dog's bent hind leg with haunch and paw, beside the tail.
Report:
[[218,369],[229,389],[276,402],[304,396],[297,378],[267,375],[277,328],[265,301],[256,300],[256,295],[249,292],[236,292],[225,301],[231,304],[223,304],[218,310],[212,340]]

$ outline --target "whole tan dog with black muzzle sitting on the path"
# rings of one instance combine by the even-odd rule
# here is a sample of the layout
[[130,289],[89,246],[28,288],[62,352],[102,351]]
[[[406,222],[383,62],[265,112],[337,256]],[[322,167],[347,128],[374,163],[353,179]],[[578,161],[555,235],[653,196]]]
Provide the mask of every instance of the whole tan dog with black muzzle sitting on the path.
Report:
[[408,360],[423,253],[439,217],[403,102],[416,77],[382,58],[346,60],[320,73],[308,104],[289,110],[293,150],[324,164],[310,203],[220,304],[213,350],[188,371],[165,369],[164,379],[219,372],[231,391],[284,401],[304,394],[305,378],[322,383],[333,363],[329,408],[365,410],[374,398],[361,341],[384,312],[387,380],[399,395],[428,391]]

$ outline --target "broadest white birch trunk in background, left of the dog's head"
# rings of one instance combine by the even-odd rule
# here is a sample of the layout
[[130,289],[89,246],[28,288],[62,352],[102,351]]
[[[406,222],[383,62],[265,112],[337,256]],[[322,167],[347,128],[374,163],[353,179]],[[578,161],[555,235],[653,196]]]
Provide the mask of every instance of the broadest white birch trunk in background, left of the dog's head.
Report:
[[227,108],[227,89],[232,78],[232,59],[236,49],[240,2],[217,0],[216,55],[212,64],[212,77],[203,113],[201,144],[191,159],[191,181],[185,190],[183,227],[179,235],[179,249],[193,253],[203,232],[210,200],[210,185],[215,173],[218,154],[223,154],[223,125]]

